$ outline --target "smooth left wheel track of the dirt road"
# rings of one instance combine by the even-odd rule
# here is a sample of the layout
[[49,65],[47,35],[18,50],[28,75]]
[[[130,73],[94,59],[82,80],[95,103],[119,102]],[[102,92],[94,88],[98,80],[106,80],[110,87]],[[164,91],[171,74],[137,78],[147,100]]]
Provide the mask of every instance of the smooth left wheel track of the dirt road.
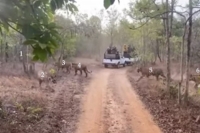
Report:
[[83,113],[80,117],[77,133],[103,132],[103,106],[108,82],[109,70],[100,70],[87,86],[83,99]]

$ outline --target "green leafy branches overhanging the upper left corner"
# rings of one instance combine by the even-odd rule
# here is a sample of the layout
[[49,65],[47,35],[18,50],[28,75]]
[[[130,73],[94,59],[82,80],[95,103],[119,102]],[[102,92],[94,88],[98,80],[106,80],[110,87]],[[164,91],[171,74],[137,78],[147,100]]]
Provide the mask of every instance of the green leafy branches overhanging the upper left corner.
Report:
[[53,16],[56,9],[77,11],[74,0],[2,0],[0,31],[13,29],[33,48],[33,59],[46,61],[61,41]]

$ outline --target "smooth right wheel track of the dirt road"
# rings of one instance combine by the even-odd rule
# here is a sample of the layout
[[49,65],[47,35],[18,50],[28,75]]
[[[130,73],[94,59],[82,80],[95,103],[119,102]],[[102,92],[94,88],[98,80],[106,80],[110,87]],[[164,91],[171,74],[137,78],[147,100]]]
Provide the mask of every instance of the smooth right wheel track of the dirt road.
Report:
[[138,98],[128,78],[126,69],[114,74],[114,81],[118,83],[116,91],[123,99],[128,119],[132,126],[133,133],[162,133],[160,128],[154,123],[152,116],[145,109],[145,106]]

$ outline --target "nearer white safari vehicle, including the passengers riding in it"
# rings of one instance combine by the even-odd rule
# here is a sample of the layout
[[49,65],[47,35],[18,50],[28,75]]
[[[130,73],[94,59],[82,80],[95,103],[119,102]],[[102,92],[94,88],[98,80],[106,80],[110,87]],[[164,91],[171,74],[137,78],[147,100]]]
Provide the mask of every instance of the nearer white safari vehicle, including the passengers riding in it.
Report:
[[107,51],[104,53],[103,64],[105,68],[107,68],[109,65],[117,68],[119,68],[119,66],[126,66],[125,58],[119,53],[116,47],[109,47],[107,49]]

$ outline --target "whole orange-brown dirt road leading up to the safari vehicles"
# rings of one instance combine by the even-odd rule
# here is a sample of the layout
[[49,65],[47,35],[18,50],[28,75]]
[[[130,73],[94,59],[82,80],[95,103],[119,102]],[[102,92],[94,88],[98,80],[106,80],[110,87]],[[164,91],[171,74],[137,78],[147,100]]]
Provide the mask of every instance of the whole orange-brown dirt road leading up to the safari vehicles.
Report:
[[102,69],[86,88],[77,133],[161,133],[126,77]]

